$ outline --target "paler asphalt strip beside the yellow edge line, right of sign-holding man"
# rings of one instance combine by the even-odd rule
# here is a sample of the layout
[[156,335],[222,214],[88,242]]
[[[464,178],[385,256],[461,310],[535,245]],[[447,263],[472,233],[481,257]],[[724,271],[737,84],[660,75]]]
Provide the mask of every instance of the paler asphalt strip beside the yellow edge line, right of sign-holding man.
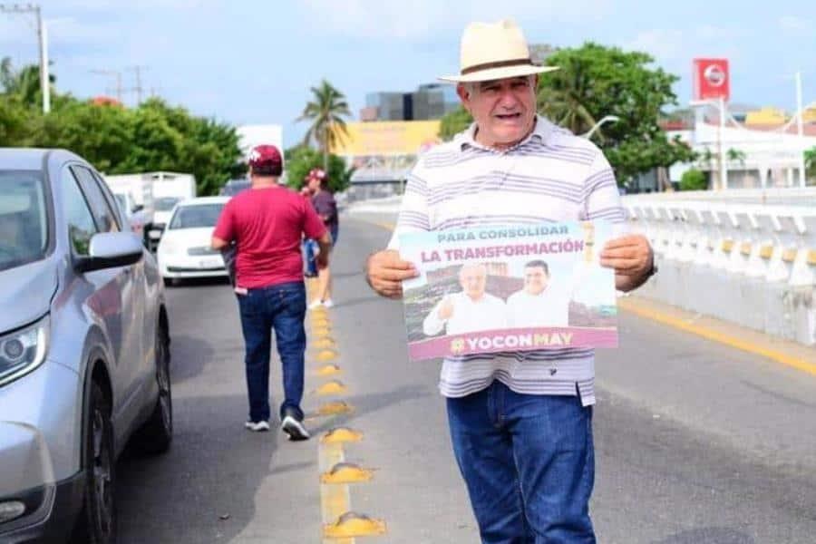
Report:
[[816,471],[816,377],[622,312],[597,383],[766,464]]

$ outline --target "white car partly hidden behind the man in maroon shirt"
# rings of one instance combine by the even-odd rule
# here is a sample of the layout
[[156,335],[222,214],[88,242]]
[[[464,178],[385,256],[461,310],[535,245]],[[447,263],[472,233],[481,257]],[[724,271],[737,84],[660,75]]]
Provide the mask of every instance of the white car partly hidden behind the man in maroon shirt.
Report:
[[187,277],[227,277],[219,251],[210,248],[212,231],[229,197],[182,200],[173,208],[159,242],[159,270],[166,283]]

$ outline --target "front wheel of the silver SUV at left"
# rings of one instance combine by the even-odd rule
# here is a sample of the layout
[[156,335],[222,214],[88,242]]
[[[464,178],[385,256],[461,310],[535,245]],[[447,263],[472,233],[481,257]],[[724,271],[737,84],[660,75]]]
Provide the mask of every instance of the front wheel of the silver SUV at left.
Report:
[[97,383],[91,386],[88,432],[84,444],[85,493],[83,513],[74,542],[110,544],[116,541],[114,490],[116,464],[113,453],[111,405]]

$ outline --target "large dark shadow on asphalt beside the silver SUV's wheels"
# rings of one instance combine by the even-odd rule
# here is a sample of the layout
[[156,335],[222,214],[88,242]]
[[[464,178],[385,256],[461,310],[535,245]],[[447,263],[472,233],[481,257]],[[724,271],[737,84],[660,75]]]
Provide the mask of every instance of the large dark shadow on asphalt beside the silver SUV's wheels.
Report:
[[[247,527],[278,434],[248,432],[236,422],[233,414],[246,404],[245,395],[179,399],[170,452],[122,455],[120,544],[228,542]],[[294,468],[277,468],[287,470]]]

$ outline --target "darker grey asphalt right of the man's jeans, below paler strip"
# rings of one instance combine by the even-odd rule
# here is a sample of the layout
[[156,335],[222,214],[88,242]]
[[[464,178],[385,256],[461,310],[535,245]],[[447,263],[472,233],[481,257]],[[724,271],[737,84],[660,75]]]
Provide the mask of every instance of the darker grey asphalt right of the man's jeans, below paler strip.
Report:
[[816,530],[816,477],[769,466],[712,432],[598,392],[598,541],[621,544],[785,542]]

